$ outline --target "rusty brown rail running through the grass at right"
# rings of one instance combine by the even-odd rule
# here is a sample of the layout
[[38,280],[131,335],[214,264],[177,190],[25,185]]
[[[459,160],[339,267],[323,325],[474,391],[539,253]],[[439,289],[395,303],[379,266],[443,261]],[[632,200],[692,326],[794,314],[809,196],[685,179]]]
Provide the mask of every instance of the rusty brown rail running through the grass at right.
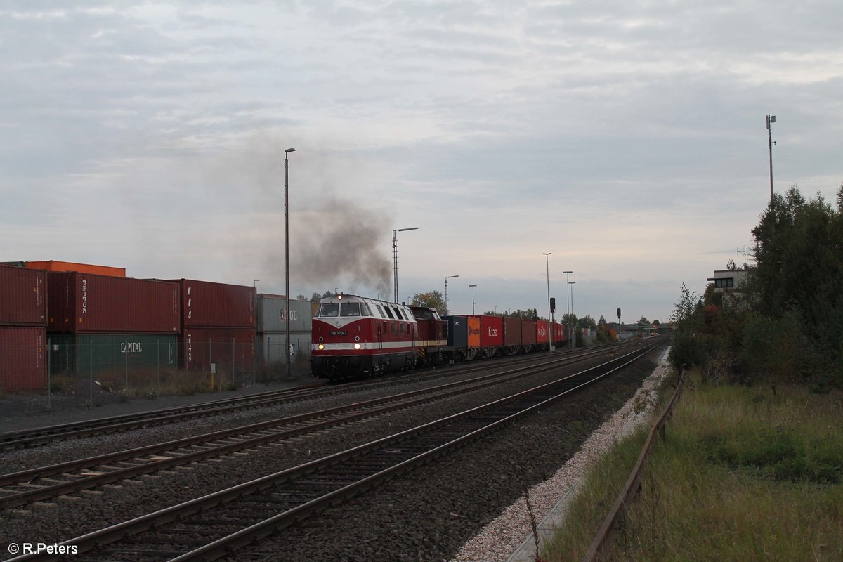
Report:
[[647,467],[647,460],[652,452],[652,447],[655,445],[656,433],[658,432],[658,435],[662,438],[662,440],[666,437],[664,426],[673,416],[674,406],[677,402],[679,402],[679,396],[682,394],[684,384],[685,375],[680,369],[679,383],[676,384],[674,395],[665,407],[663,414],[658,418],[656,423],[652,425],[650,433],[647,436],[647,442],[644,443],[642,452],[638,455],[638,460],[636,461],[635,467],[632,468],[632,473],[629,478],[626,479],[626,484],[624,484],[624,487],[621,488],[620,494],[618,495],[617,500],[615,500],[615,504],[612,506],[611,511],[609,511],[609,515],[606,516],[603,525],[600,526],[591,546],[588,547],[588,551],[585,556],[583,556],[582,562],[599,562],[600,560],[605,559],[606,554],[609,551],[609,547],[612,544],[612,539],[615,538],[618,528],[626,519],[628,506],[636,500],[638,490],[641,487],[641,479],[644,473],[644,468]]

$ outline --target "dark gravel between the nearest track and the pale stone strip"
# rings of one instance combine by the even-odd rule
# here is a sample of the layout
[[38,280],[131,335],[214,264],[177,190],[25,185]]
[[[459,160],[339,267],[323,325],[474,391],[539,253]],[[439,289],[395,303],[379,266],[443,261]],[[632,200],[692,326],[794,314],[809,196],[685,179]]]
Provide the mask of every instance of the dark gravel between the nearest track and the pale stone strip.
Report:
[[[640,388],[656,355],[374,494],[240,549],[231,560],[452,559],[525,488],[550,478],[572,458]],[[502,553],[511,554],[523,539],[518,530]]]

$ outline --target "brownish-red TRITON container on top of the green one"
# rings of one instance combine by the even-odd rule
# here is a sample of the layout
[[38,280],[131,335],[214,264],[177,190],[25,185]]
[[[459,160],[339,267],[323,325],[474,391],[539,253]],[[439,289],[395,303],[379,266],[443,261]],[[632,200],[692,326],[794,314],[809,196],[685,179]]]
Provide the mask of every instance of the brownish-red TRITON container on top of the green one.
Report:
[[71,334],[179,332],[179,286],[89,273],[47,273],[47,330]]

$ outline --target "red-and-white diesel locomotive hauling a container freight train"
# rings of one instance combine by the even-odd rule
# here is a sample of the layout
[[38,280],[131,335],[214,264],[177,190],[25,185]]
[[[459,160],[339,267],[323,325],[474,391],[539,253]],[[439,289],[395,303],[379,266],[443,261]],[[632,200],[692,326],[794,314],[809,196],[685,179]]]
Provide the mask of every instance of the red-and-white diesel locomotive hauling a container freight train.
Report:
[[547,350],[568,339],[561,324],[486,314],[440,317],[433,308],[337,295],[313,318],[314,377],[339,381],[412,367]]

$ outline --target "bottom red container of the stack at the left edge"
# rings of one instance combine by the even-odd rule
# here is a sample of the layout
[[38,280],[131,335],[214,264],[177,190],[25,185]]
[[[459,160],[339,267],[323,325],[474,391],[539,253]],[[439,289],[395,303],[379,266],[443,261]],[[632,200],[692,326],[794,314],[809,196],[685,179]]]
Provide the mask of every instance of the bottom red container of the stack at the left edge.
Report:
[[43,326],[0,326],[0,388],[46,388],[45,345]]

